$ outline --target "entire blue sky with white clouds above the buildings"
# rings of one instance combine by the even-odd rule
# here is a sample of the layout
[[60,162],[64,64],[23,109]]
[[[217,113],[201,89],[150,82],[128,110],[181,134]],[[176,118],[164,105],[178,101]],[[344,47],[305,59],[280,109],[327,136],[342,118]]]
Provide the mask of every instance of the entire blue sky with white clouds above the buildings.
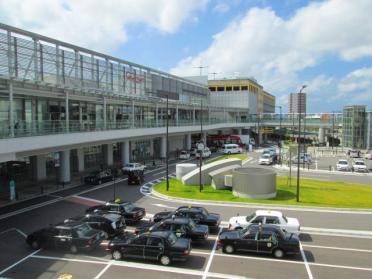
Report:
[[302,85],[308,112],[372,110],[372,0],[0,0],[0,22],[179,76],[254,77],[283,111]]

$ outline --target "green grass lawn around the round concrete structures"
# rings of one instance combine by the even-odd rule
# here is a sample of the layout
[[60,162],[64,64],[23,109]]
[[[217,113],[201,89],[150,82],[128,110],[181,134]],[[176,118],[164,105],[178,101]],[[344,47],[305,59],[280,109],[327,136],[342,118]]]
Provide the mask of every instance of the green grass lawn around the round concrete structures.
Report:
[[164,195],[198,200],[322,207],[372,208],[372,186],[314,179],[301,179],[300,202],[296,202],[295,179],[292,181],[292,186],[287,186],[287,177],[282,176],[277,177],[276,198],[268,200],[238,198],[233,196],[230,190],[214,190],[211,186],[204,186],[203,191],[200,193],[199,185],[184,186],[181,181],[174,178],[170,179],[168,192],[166,191],[165,182],[155,185],[154,189]]

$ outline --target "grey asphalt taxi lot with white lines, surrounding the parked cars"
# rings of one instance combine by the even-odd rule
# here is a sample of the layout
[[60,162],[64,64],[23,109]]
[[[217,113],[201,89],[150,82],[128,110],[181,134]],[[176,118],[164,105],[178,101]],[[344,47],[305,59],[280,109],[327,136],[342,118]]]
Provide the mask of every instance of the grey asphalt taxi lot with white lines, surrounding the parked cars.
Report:
[[[151,181],[158,174],[147,177]],[[123,182],[116,185],[121,196],[146,208],[148,218],[152,214],[182,203],[159,201],[144,196],[136,186]],[[299,218],[304,226],[300,236],[302,253],[297,256],[275,259],[270,255],[254,253],[224,254],[217,249],[217,235],[209,235],[204,245],[193,245],[186,262],[161,266],[157,262],[141,260],[114,261],[103,249],[90,253],[70,254],[53,250],[31,250],[25,236],[49,223],[81,214],[95,200],[112,197],[112,183],[67,197],[45,207],[24,211],[11,218],[2,219],[0,231],[0,277],[5,278],[58,278],[70,274],[72,278],[371,278],[372,235],[358,234],[371,231],[371,212],[303,211],[283,209],[288,216]],[[160,208],[159,208],[160,207]],[[206,205],[211,212],[220,213],[226,229],[229,217],[253,208],[239,206]],[[146,220],[143,222],[147,222]],[[138,225],[137,225],[138,226]],[[311,232],[306,227],[315,227]],[[322,228],[317,231],[316,228]],[[2,226],[3,228],[3,226]],[[325,229],[345,232],[324,232]],[[133,231],[134,227],[128,227]],[[349,230],[356,233],[349,234]]]

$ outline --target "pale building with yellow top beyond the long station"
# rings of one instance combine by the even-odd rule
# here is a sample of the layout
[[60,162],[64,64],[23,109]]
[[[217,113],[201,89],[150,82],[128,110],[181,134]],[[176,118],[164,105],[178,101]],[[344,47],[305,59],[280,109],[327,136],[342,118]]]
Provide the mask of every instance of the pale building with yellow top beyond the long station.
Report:
[[249,109],[249,113],[274,113],[275,96],[251,78],[208,80],[211,104]]

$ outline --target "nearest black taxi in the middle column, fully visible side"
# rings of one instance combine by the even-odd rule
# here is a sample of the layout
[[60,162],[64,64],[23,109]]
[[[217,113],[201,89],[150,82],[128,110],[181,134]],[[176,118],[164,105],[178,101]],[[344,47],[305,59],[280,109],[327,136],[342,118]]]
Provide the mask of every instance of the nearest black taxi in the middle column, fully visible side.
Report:
[[112,258],[146,259],[169,265],[173,261],[185,261],[190,255],[190,239],[178,238],[173,232],[152,232],[128,238],[115,238],[108,243],[106,250]]

